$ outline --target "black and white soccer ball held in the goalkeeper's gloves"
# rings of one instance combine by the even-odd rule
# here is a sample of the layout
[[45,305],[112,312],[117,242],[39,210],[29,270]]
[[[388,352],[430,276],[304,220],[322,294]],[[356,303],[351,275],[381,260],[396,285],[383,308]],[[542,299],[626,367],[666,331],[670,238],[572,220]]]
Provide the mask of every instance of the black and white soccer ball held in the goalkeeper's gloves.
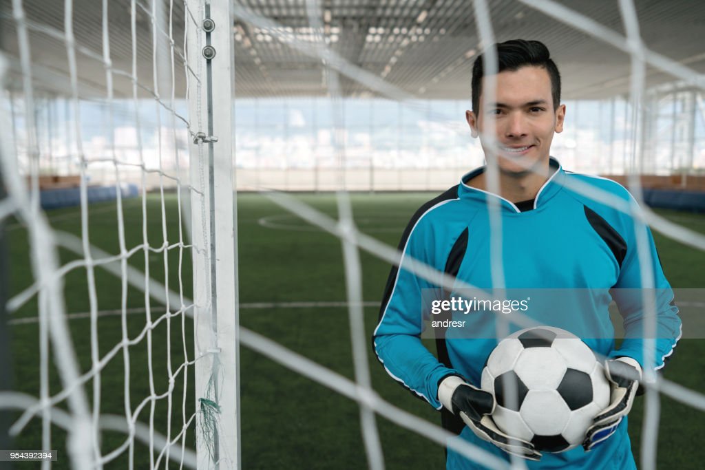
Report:
[[[510,400],[510,383],[517,400]],[[482,390],[496,397],[492,417],[502,431],[546,452],[580,445],[610,400],[603,366],[592,350],[572,333],[550,326],[517,331],[499,342],[482,371]]]

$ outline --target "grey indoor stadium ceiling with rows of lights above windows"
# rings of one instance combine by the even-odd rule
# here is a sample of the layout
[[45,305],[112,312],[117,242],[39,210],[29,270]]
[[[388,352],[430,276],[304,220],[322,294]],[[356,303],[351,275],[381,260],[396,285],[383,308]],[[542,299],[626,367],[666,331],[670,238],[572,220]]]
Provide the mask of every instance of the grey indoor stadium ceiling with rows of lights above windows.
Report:
[[[104,96],[102,11],[98,0],[73,0],[74,34],[80,45],[78,70],[82,94]],[[534,8],[531,1],[489,0],[497,40],[525,38],[545,42],[563,75],[563,97],[600,98],[629,91],[630,56]],[[471,0],[321,0],[312,28],[306,0],[238,0],[236,11],[266,18],[262,28],[240,18],[232,25],[235,39],[235,80],[238,97],[320,96],[327,93],[320,58],[290,47],[282,35],[301,44],[321,37],[333,51],[353,65],[383,78],[421,99],[470,97],[470,67],[481,48]],[[617,0],[565,0],[561,6],[594,20],[618,35],[625,34]],[[18,56],[11,18],[11,0],[0,0],[2,49]],[[69,87],[66,44],[63,40],[64,2],[23,0],[30,30],[34,75],[47,90],[66,93]],[[639,28],[649,49],[705,73],[705,1],[635,0]],[[137,0],[137,76],[152,88],[152,4]],[[173,8],[173,37],[183,53],[183,1],[165,1]],[[216,18],[217,23],[217,18]],[[260,25],[261,26],[261,25]],[[164,30],[168,30],[168,24]],[[130,0],[109,0],[111,58],[116,70],[116,96],[130,96],[132,70]],[[177,65],[180,63],[178,54]],[[18,61],[12,61],[13,87],[20,88]],[[183,66],[176,73],[180,92]],[[349,73],[348,75],[355,75]],[[647,85],[675,80],[649,67]],[[343,94],[376,94],[350,76],[341,78]]]

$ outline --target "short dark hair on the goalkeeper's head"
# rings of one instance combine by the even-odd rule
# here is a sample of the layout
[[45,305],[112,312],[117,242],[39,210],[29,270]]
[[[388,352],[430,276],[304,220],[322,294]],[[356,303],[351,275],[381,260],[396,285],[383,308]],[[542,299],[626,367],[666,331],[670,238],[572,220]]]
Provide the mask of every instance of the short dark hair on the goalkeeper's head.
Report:
[[[512,39],[511,41],[493,44],[497,51],[498,71],[519,70],[522,67],[533,66],[545,68],[551,78],[551,97],[553,98],[553,109],[558,109],[560,105],[560,73],[556,63],[551,59],[551,53],[543,42],[525,41],[524,39]],[[480,94],[482,93],[482,78],[484,77],[484,66],[482,64],[482,54],[477,56],[472,65],[472,112],[477,113],[480,104]]]

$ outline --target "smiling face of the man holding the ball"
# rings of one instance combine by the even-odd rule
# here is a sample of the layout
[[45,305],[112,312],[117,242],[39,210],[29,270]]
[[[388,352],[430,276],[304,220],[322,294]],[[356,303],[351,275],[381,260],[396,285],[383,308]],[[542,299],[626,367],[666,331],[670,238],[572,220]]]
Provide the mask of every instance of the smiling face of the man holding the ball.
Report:
[[480,135],[482,149],[489,154],[482,133],[494,121],[500,170],[513,174],[539,170],[548,162],[553,132],[563,131],[565,117],[565,105],[553,109],[551,77],[545,68],[534,66],[505,70],[483,78],[483,92],[486,80],[493,79],[497,80],[495,102],[485,109],[481,94],[477,116],[465,112],[472,136]]

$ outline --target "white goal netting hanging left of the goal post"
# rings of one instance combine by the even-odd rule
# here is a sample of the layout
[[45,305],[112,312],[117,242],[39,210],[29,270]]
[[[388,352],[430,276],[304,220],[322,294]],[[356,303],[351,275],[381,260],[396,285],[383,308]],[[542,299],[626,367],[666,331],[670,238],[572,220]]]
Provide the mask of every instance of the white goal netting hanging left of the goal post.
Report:
[[[185,199],[204,193],[181,167],[192,134],[185,89],[200,89],[184,53],[192,6],[47,6],[63,30],[21,1],[3,6],[18,53],[3,58],[2,118],[13,129],[2,148],[4,217],[13,214],[8,236],[27,249],[12,263],[33,273],[13,270],[6,307],[11,323],[30,328],[16,337],[38,345],[15,357],[18,391],[3,404],[21,413],[10,433],[25,447],[66,449],[74,468],[195,467],[187,436],[199,414],[198,356],[182,214]],[[55,60],[66,75],[51,73]],[[100,201],[112,203],[94,209]],[[80,211],[42,210],[76,202]],[[85,320],[69,325],[67,310]]]

